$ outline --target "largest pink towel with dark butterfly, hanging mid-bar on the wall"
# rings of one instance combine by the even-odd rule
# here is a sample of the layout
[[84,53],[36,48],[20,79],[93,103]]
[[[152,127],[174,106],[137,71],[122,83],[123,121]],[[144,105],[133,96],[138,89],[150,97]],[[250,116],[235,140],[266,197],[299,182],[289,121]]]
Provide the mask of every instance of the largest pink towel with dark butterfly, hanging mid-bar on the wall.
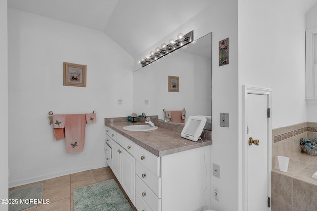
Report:
[[65,137],[67,153],[78,153],[84,150],[85,114],[65,115]]

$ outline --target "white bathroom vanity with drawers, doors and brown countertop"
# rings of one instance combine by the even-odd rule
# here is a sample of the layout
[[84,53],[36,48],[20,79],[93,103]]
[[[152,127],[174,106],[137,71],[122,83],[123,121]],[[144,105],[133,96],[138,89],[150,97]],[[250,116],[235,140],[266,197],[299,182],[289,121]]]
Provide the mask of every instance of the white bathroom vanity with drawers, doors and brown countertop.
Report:
[[166,127],[125,131],[122,127],[144,123],[114,119],[105,118],[106,162],[138,211],[208,207],[211,135],[194,142]]

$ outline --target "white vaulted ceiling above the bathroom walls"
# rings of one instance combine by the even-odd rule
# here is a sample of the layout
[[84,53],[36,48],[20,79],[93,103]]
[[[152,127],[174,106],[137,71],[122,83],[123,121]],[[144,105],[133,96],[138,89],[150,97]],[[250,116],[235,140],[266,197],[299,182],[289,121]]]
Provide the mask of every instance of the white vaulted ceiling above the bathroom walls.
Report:
[[[285,0],[307,11],[317,0]],[[8,0],[8,7],[105,32],[136,57],[213,0]]]

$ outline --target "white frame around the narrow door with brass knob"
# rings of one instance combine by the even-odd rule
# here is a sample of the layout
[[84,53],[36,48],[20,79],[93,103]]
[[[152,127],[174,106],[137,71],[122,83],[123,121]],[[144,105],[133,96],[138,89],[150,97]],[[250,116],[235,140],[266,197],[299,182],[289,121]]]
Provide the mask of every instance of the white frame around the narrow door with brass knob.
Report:
[[[271,109],[270,118],[268,118],[267,125],[267,137],[268,137],[268,197],[271,197],[271,172],[272,172],[272,89],[270,88],[261,88],[254,86],[243,85],[243,98],[242,98],[242,210],[247,211],[248,205],[248,154],[247,143],[248,134],[247,134],[247,118],[246,118],[246,100],[248,94],[259,94],[266,95],[268,100],[268,108]],[[272,205],[272,202],[271,202]],[[269,209],[271,210],[271,209]]]

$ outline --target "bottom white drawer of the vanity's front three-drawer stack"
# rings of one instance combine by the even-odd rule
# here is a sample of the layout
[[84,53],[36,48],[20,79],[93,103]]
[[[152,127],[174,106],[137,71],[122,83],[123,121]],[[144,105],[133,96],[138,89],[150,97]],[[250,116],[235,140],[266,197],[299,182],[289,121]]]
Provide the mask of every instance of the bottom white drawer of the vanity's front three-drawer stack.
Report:
[[140,194],[152,211],[161,210],[161,199],[159,199],[138,176],[135,177],[135,189],[136,194]]

